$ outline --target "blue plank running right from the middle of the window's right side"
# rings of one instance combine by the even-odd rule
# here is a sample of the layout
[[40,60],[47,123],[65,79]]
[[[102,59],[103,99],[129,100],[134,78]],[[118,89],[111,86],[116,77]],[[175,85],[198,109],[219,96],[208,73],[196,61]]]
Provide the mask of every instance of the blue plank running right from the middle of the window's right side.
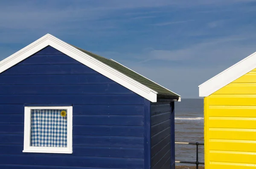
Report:
[[[112,135],[143,137],[144,127],[134,126],[73,126],[73,135]],[[1,131],[0,131],[1,132]]]

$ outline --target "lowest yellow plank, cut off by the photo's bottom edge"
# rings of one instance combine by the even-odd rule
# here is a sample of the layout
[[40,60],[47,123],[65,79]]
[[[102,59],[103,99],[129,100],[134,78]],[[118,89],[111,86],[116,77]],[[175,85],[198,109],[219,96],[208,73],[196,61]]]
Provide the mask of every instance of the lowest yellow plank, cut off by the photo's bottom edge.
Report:
[[229,163],[211,161],[207,169],[255,169],[256,163]]

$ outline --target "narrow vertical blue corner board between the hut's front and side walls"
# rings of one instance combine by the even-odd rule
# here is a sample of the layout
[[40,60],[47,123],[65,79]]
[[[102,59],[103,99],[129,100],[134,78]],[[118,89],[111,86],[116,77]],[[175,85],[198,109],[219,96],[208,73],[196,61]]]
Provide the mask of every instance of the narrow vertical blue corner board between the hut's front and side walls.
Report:
[[151,122],[150,122],[150,101],[144,99],[144,168],[151,168]]

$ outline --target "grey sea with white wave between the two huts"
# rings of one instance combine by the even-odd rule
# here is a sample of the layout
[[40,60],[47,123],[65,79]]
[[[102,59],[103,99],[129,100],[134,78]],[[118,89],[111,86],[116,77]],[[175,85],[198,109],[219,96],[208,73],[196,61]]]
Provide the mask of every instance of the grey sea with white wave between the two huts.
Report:
[[[204,143],[204,100],[175,102],[175,142]],[[198,146],[198,159],[204,162],[204,146]],[[175,144],[175,161],[196,161],[196,145]],[[179,164],[176,166],[195,166]],[[202,165],[201,165],[202,166]]]

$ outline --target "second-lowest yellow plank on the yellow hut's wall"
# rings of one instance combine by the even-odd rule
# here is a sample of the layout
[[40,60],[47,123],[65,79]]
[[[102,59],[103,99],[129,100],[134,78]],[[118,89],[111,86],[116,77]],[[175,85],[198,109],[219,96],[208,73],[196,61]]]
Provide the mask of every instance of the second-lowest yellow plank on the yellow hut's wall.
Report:
[[256,152],[210,150],[209,160],[231,163],[255,163]]

